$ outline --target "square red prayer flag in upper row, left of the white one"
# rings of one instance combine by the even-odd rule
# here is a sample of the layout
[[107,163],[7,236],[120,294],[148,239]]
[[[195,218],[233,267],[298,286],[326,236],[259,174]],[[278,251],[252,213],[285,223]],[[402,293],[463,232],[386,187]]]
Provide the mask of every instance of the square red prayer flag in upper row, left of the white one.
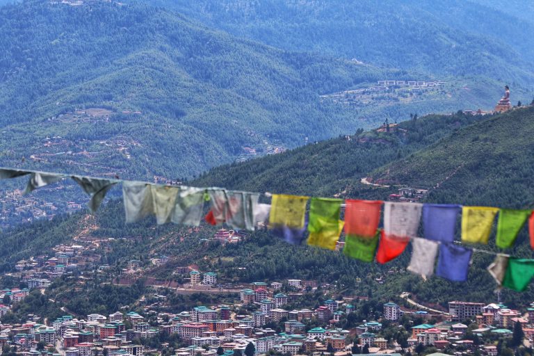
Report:
[[380,200],[345,200],[345,233],[375,238],[380,223]]

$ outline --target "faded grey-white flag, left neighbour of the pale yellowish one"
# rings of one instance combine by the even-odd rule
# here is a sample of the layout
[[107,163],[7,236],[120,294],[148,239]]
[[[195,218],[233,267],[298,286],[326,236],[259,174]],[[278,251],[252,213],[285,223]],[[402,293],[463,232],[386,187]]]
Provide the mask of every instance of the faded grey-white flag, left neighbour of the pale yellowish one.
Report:
[[122,199],[126,223],[146,218],[154,213],[152,200],[152,186],[138,181],[124,181],[122,183]]

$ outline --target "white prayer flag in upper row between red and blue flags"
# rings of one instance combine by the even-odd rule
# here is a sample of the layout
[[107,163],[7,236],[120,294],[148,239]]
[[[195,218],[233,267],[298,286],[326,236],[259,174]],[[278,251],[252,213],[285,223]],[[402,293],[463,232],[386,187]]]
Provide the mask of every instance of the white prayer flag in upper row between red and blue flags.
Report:
[[407,239],[417,236],[421,220],[420,203],[385,202],[384,233],[387,238]]

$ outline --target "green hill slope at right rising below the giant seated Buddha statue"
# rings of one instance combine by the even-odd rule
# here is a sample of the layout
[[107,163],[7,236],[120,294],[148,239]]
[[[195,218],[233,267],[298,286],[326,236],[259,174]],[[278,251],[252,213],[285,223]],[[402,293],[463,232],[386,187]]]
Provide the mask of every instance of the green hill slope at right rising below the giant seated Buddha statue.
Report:
[[431,200],[534,208],[534,107],[472,124],[372,173],[380,184],[429,188]]

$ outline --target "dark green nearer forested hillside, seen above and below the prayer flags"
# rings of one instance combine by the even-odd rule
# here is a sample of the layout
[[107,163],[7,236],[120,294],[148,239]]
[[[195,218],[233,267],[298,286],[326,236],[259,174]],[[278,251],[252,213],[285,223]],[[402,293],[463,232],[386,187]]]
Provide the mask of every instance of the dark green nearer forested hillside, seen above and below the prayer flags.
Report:
[[[389,168],[389,174],[394,175],[401,169],[403,178],[406,177],[403,184],[417,184],[420,183],[417,181],[419,176],[425,177],[421,174],[422,169],[438,174],[441,170],[448,172],[448,161],[456,160],[465,164],[466,173],[458,171],[458,179],[454,175],[447,183],[430,189],[424,198],[426,202],[533,208],[532,189],[526,184],[534,168],[519,158],[521,154],[527,157],[529,154],[526,143],[534,130],[533,112],[534,108],[524,108],[503,115],[458,113],[416,118],[391,127],[389,131],[358,132],[285,154],[216,168],[189,183],[252,191],[384,199],[398,186],[373,187],[361,184],[360,179],[373,171],[385,172]],[[445,151],[449,152],[447,159],[439,156]],[[484,159],[480,159],[479,152],[485,152]],[[471,165],[476,159],[480,160],[480,165]],[[421,168],[423,163],[425,166]],[[409,175],[407,172],[413,173]],[[505,177],[506,182],[492,185],[487,180],[499,179],[497,175]],[[83,229],[87,225],[91,229]],[[158,253],[172,256],[168,266],[152,270],[152,276],[162,279],[172,278],[175,266],[197,264],[202,270],[217,270],[221,280],[233,282],[286,277],[336,280],[339,286],[343,285],[347,295],[371,295],[377,302],[381,298],[394,298],[403,291],[410,291],[426,302],[446,303],[456,298],[492,300],[494,282],[485,272],[492,257],[487,254],[475,254],[469,282],[457,285],[439,277],[423,281],[407,272],[387,273],[391,268],[404,268],[410,250],[398,260],[380,266],[348,259],[339,252],[287,245],[269,232],[255,232],[243,243],[231,246],[206,243],[204,238],[210,238],[215,231],[215,227],[208,226],[198,230],[176,225],[156,227],[152,219],[124,225],[122,204],[111,202],[94,218],[80,214],[4,232],[1,254],[5,256],[9,252],[10,257],[2,267],[13,268],[13,263],[27,253],[45,251],[53,244],[49,236],[58,236],[58,241],[65,241],[65,236],[83,235],[115,238],[115,242],[102,247],[100,254],[101,263],[111,264],[113,268],[120,268],[132,256],[143,261]],[[531,256],[526,235],[526,231],[520,234],[517,247],[510,253]],[[492,244],[484,248],[497,250]],[[373,281],[378,276],[385,278],[384,284]],[[355,277],[361,277],[363,282],[357,282]],[[73,308],[84,299],[74,292],[69,292],[68,298],[66,294],[64,297]],[[528,289],[525,293],[515,293],[503,290],[502,298],[510,307],[528,305],[534,298],[534,291]],[[86,307],[87,303],[79,307],[82,305]]]

